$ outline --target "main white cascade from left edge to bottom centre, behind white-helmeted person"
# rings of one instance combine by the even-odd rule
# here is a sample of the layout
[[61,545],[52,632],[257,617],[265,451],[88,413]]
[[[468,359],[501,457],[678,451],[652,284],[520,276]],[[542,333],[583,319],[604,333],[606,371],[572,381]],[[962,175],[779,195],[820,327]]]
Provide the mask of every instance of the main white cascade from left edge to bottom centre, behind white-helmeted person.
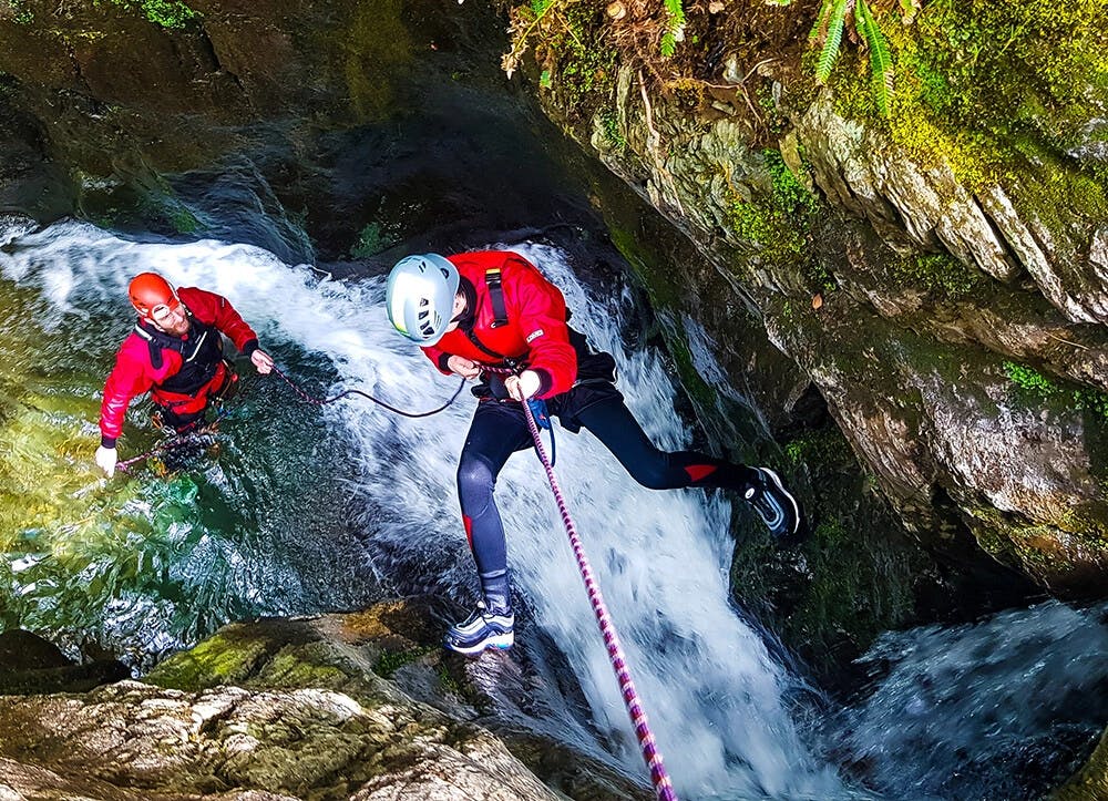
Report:
[[[566,291],[577,325],[595,345],[616,355],[628,402],[647,432],[663,446],[684,444],[688,433],[674,414],[673,383],[658,357],[648,351],[627,353],[619,341],[618,321],[626,300],[587,299],[557,250],[531,247],[524,254],[541,263]],[[306,380],[298,361],[307,364],[310,379],[332,371],[328,384],[309,387],[317,394],[339,384],[358,386],[394,404],[427,409],[456,387],[392,331],[383,314],[380,279],[340,284],[307,267],[284,265],[250,246],[141,244],[75,223],[24,235],[0,257],[0,267],[7,281],[33,287],[44,301],[44,330],[69,332],[81,327],[81,347],[99,353],[105,370],[126,331],[126,283],[140,270],[156,268],[177,285],[227,296],[295,379]],[[320,359],[326,367],[320,367]],[[246,389],[253,390],[257,404],[274,402],[281,392],[275,381],[256,380]],[[462,398],[442,414],[419,421],[389,415],[357,399],[321,411],[299,408],[297,417],[310,431],[297,434],[286,424],[290,438],[286,441],[273,437],[250,441],[242,434],[253,431],[230,428],[227,439],[244,452],[242,461],[222,469],[205,468],[219,474],[216,480],[189,474],[198,484],[192,502],[245,512],[252,503],[263,503],[266,492],[287,492],[296,476],[284,462],[294,468],[300,464],[297,456],[302,454],[297,451],[312,446],[311,435],[320,427],[341,431],[351,444],[357,469],[356,474],[334,476],[334,481],[349,493],[348,514],[360,515],[357,523],[371,537],[368,552],[375,556],[376,568],[407,573],[408,584],[418,587],[421,579],[411,576],[419,576],[425,567],[425,587],[439,586],[465,598],[474,575],[460,525],[454,469],[475,401],[468,393]],[[91,433],[91,424],[88,428]],[[557,437],[557,470],[567,501],[678,787],[694,798],[815,798],[837,788],[833,772],[813,763],[789,719],[782,697],[791,679],[729,606],[727,501],[708,501],[699,491],[644,490],[591,435],[558,431]],[[121,448],[131,446],[127,439],[121,442]],[[91,458],[91,437],[88,448]],[[259,448],[273,448],[280,458],[258,465],[250,454]],[[326,459],[326,454],[315,456]],[[252,472],[259,468],[260,477]],[[228,489],[232,484],[239,487]],[[228,499],[236,493],[240,497]],[[554,638],[577,672],[601,740],[628,771],[639,774],[640,757],[615,678],[545,476],[532,454],[521,453],[510,461],[497,497],[510,532],[510,558],[521,592],[530,599],[534,625]],[[310,499],[301,494],[300,517],[286,510],[280,525],[295,531],[306,524],[317,512]],[[260,545],[274,526],[260,514],[243,512],[238,516],[249,520],[237,520],[223,530],[214,521],[205,528],[188,551],[194,571],[214,558],[258,561],[258,554],[245,546]],[[252,526],[261,532],[249,531]],[[165,530],[175,531],[173,523]],[[268,576],[261,571],[246,586],[208,587],[205,599],[215,600],[212,594],[225,593],[249,599],[245,606],[255,612],[326,606],[326,596],[307,603],[302,593],[289,589],[297,585],[291,574],[318,571],[298,559],[318,558],[321,551],[289,554],[291,540],[278,543],[285,553],[271,544]],[[335,559],[329,562],[334,565]],[[283,602],[273,603],[273,593],[285,596]],[[235,606],[226,599],[222,604],[227,612]]]

